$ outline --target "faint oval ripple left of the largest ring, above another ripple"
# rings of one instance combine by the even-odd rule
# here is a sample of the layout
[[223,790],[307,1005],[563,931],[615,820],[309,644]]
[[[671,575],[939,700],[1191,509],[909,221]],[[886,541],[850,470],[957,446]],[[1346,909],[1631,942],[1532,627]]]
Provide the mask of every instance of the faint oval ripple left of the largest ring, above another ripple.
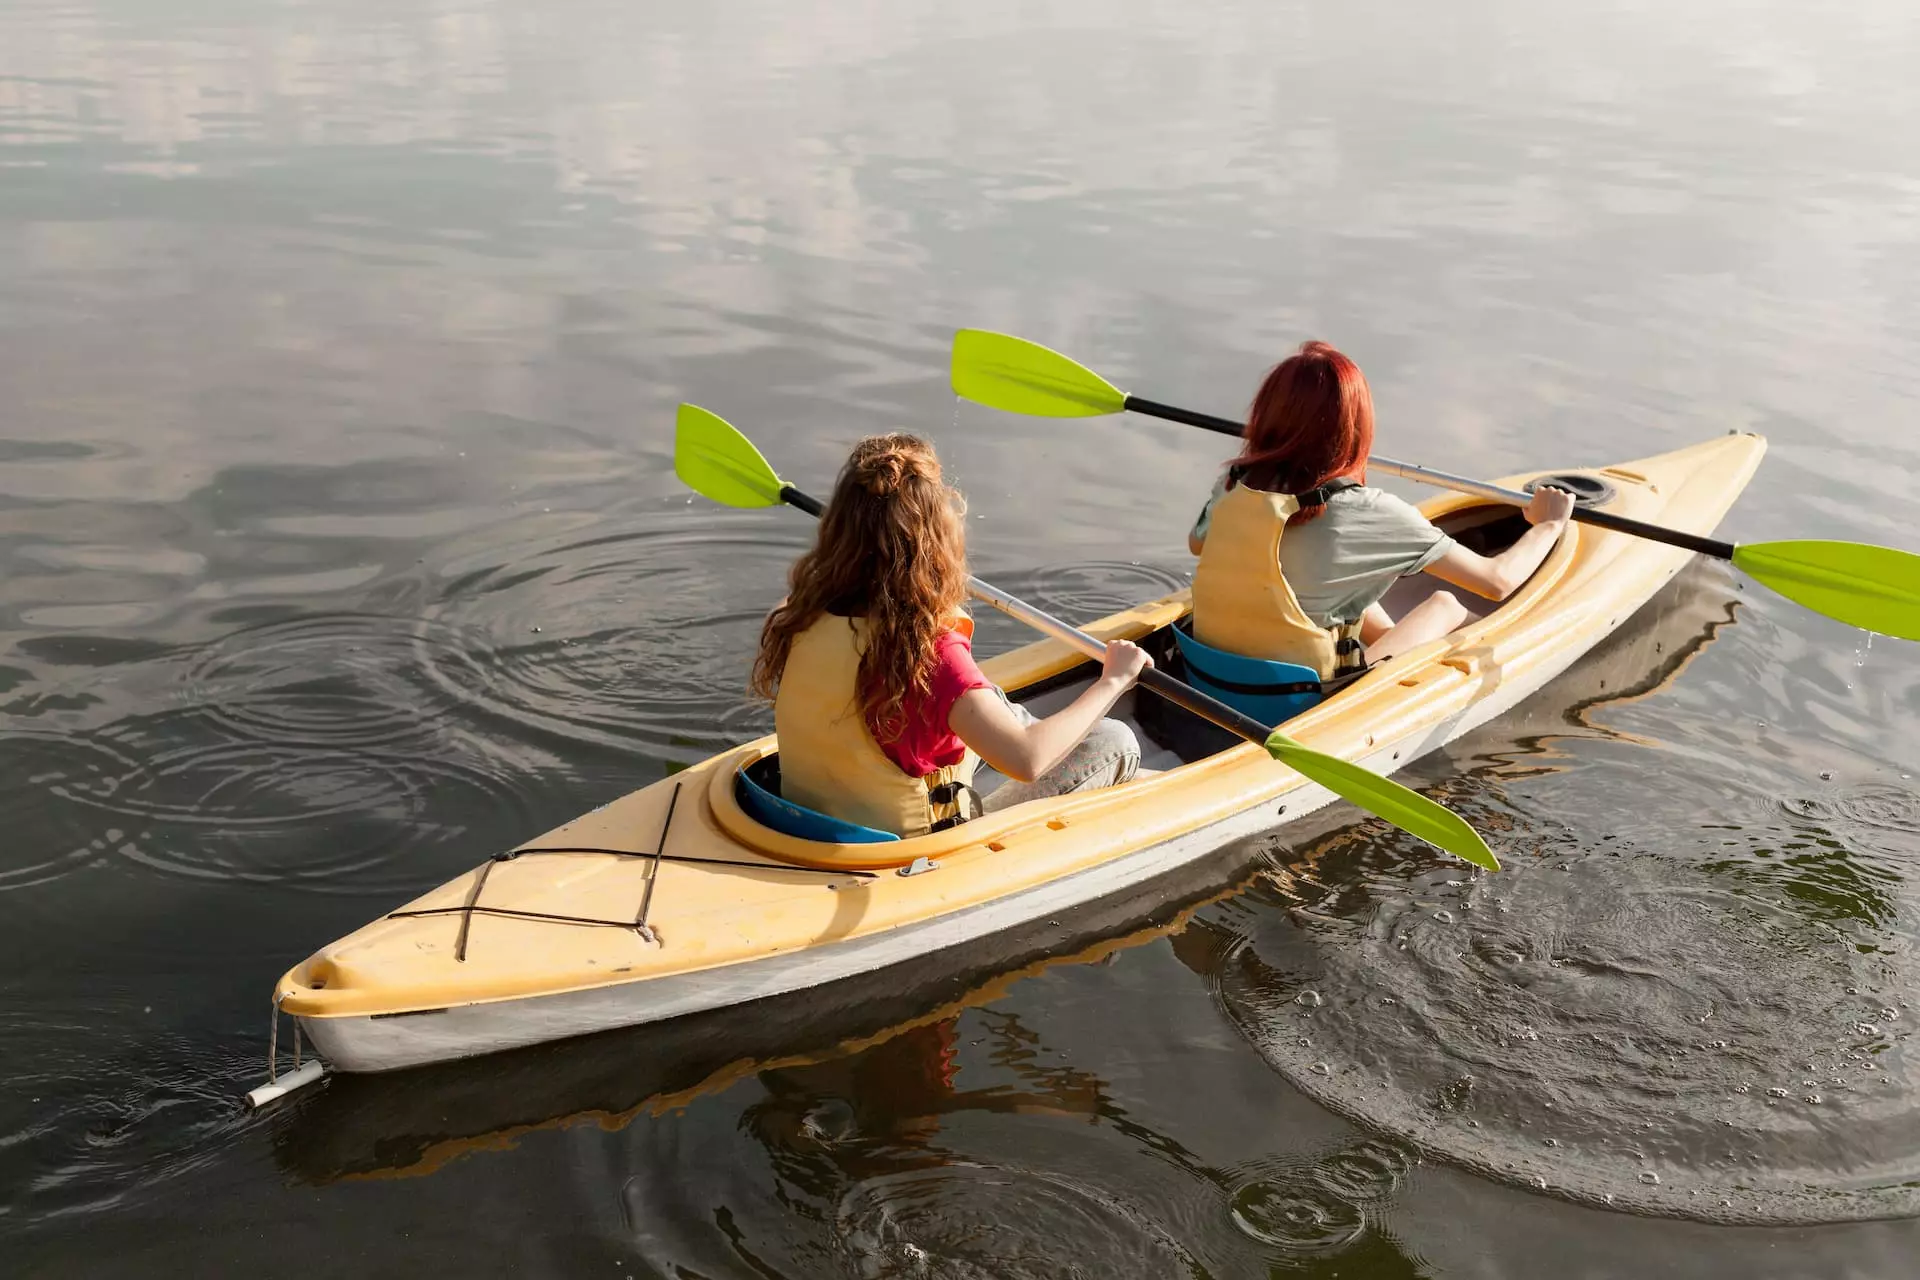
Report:
[[457,704],[432,672],[470,664],[470,649],[449,628],[378,614],[269,622],[202,649],[184,697],[250,739],[392,747]]

